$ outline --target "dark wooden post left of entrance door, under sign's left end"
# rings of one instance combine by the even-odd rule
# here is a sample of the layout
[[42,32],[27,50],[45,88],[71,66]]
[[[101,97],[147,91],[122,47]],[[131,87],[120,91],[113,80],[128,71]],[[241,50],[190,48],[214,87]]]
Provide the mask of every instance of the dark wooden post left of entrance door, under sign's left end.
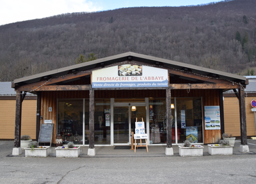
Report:
[[90,89],[89,105],[89,148],[94,148],[94,90]]

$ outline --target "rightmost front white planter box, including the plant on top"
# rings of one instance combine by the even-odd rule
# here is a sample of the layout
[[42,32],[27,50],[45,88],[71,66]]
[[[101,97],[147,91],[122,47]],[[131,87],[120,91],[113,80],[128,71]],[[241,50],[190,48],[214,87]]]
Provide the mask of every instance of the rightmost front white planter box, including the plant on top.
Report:
[[233,155],[233,146],[230,146],[228,140],[220,140],[219,144],[208,144],[208,153],[210,155]]

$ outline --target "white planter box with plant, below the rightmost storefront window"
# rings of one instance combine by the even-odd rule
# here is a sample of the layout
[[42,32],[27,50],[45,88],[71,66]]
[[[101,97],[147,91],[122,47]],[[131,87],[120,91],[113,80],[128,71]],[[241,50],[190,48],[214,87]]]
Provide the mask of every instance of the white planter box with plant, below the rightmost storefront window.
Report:
[[184,146],[179,146],[179,154],[185,156],[203,156],[204,146],[191,145],[189,140],[184,141]]

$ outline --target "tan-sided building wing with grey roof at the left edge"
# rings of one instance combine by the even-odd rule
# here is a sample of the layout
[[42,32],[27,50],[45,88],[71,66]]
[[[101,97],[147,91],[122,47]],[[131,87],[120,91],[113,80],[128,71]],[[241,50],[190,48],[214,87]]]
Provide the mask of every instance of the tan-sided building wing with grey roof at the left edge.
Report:
[[[14,139],[16,92],[12,82],[0,82],[0,139]],[[36,139],[36,95],[28,93],[22,104],[21,135]]]

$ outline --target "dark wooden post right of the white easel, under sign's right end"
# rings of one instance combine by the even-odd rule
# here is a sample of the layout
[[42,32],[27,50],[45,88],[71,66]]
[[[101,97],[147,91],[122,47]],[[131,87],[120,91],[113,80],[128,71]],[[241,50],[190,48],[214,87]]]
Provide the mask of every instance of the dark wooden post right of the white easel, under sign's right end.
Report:
[[172,148],[172,100],[171,89],[166,89],[166,147]]

